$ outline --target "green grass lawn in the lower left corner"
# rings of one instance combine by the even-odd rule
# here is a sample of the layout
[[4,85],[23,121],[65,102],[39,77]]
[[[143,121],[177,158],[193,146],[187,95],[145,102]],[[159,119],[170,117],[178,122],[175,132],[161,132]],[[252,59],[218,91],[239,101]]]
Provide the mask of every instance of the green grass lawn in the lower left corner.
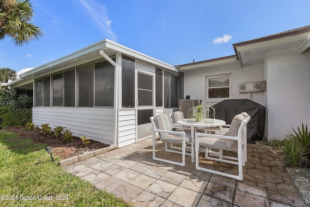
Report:
[[0,130],[0,206],[131,206],[63,171],[46,147]]

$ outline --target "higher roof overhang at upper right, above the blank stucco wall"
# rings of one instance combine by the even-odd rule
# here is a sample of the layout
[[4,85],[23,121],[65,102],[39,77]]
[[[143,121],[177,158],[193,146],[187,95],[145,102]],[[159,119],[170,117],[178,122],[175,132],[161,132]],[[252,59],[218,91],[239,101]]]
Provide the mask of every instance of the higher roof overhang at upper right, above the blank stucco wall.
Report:
[[242,67],[263,64],[267,52],[288,48],[299,48],[300,53],[310,48],[310,25],[280,32],[258,39],[233,44]]

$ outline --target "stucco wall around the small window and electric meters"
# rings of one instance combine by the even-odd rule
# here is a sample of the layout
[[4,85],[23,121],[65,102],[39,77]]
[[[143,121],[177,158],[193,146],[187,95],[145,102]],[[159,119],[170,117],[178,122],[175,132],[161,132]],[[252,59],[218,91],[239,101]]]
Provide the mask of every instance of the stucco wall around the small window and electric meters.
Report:
[[[265,106],[264,92],[239,93],[239,83],[255,82],[264,80],[263,64],[251,65],[241,68],[240,64],[231,66],[202,69],[184,73],[184,97],[190,96],[190,99],[206,100],[206,76],[232,74],[232,99],[249,98]],[[217,102],[211,102],[215,104]]]

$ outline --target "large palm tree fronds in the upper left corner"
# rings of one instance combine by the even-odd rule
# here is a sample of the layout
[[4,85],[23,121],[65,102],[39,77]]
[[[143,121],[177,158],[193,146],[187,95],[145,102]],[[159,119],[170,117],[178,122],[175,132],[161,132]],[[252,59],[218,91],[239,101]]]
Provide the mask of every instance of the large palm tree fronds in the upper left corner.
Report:
[[0,40],[12,38],[16,46],[23,46],[43,36],[43,30],[29,21],[33,16],[30,0],[0,0]]

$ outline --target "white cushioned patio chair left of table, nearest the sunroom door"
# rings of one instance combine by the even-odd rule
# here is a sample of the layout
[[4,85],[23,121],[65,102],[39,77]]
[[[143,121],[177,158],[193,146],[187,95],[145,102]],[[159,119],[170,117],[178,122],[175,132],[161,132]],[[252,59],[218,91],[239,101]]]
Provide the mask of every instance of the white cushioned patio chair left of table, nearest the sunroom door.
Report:
[[[153,124],[153,159],[158,161],[167,162],[170,164],[185,166],[185,156],[191,156],[194,159],[194,150],[191,153],[186,153],[186,144],[191,143],[194,149],[194,142],[190,134],[186,134],[184,131],[172,131],[171,123],[167,114],[158,114],[155,117],[150,117]],[[156,132],[158,132],[159,138],[156,138]],[[177,153],[182,155],[182,162],[171,161],[168,159],[161,159],[155,156],[155,142],[161,140],[165,143],[165,151],[171,153]],[[181,151],[168,148],[168,143],[182,144]]]

